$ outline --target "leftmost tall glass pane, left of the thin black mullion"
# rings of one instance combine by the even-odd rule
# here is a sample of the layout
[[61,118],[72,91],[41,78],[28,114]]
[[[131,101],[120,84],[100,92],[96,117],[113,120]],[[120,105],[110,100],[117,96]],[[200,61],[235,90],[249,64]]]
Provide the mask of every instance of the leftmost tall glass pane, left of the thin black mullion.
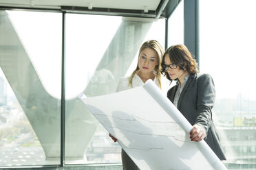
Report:
[[0,11],[0,167],[60,164],[61,14]]

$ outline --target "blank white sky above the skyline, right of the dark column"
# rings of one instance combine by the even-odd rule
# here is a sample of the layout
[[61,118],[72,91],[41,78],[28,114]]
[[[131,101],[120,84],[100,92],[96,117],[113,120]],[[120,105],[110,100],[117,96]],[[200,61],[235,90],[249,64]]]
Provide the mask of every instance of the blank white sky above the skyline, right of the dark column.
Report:
[[256,1],[200,1],[200,69],[218,98],[256,99]]

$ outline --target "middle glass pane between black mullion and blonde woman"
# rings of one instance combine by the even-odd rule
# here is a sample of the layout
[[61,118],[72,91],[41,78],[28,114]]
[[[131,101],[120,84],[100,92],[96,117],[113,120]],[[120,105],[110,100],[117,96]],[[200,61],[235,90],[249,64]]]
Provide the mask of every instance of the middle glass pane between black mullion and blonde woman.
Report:
[[164,47],[164,20],[67,14],[66,27],[66,163],[121,162],[118,143],[77,97],[116,92],[120,77],[136,68],[142,42]]

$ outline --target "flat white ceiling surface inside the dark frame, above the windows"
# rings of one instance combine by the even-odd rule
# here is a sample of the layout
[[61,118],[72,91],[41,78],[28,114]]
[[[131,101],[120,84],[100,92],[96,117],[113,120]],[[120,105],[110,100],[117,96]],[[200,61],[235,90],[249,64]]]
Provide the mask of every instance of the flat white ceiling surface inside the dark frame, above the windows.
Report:
[[125,10],[154,10],[160,0],[0,0],[0,6],[19,8],[54,8],[77,6],[92,8],[113,8]]

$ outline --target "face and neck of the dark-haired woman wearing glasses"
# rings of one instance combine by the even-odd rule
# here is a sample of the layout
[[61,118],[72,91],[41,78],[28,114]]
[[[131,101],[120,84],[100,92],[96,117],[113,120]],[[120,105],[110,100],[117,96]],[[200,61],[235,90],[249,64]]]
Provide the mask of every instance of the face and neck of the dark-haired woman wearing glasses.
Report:
[[[189,74],[188,71],[184,71],[182,69],[180,69],[180,66],[176,65],[175,63],[172,63],[170,60],[170,56],[169,53],[167,53],[164,56],[164,65],[167,66],[167,73],[169,74],[169,76],[171,77],[171,80],[175,80],[175,79],[179,79],[180,82],[183,82],[184,77],[186,77],[186,75]],[[175,68],[175,69],[171,69],[171,68]]]

